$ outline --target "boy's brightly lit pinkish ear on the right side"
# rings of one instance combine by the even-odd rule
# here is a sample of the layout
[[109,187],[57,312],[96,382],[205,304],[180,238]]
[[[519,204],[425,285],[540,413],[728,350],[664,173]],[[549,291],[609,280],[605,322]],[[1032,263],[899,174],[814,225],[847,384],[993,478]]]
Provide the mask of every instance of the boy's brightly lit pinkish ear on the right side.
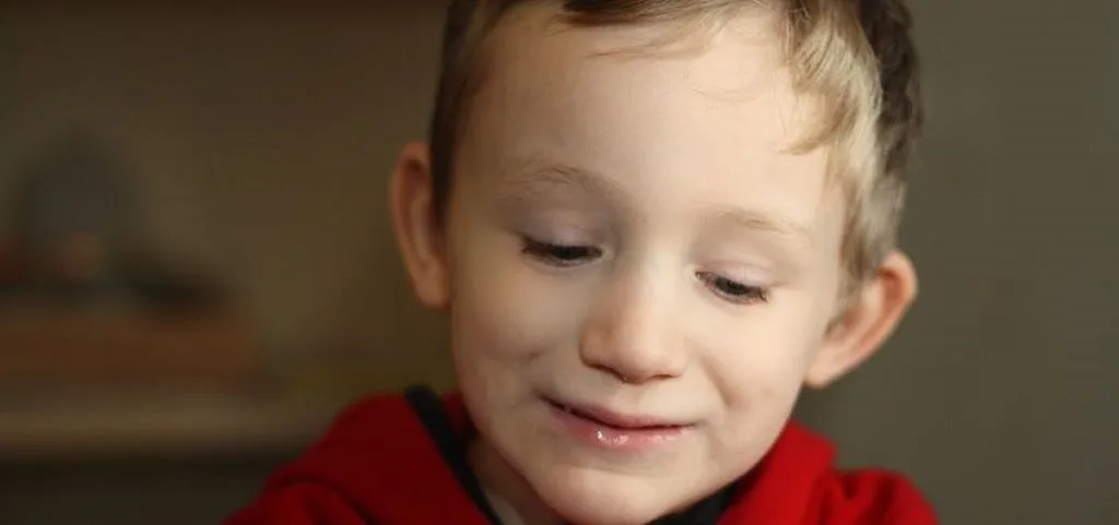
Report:
[[828,330],[805,378],[824,388],[871,357],[882,346],[916,297],[916,271],[901,251],[886,257],[848,302]]

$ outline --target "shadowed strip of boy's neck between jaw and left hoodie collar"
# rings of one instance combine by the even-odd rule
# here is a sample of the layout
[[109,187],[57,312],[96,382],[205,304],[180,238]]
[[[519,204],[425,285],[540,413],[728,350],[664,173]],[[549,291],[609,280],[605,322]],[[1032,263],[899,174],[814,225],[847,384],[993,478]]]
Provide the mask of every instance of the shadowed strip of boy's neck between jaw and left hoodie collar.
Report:
[[468,459],[493,512],[506,525],[562,525],[560,518],[536,495],[520,474],[485,439],[476,437]]

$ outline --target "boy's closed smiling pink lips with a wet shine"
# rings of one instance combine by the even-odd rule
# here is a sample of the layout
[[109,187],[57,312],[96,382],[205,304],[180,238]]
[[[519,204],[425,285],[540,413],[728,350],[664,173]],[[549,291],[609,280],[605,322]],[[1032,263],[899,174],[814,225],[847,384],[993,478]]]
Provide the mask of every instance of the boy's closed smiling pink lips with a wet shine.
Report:
[[692,427],[619,428],[571,413],[547,403],[552,416],[568,436],[598,448],[640,452],[668,447],[684,439]]

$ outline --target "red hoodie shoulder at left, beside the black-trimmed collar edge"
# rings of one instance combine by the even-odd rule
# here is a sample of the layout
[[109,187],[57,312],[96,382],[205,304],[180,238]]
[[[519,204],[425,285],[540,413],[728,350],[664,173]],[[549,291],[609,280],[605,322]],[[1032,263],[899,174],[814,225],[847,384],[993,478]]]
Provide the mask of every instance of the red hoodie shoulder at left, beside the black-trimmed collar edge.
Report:
[[[467,420],[454,394],[423,392],[452,427]],[[344,410],[226,525],[477,523],[472,502],[417,416],[416,399],[407,395],[368,397]]]

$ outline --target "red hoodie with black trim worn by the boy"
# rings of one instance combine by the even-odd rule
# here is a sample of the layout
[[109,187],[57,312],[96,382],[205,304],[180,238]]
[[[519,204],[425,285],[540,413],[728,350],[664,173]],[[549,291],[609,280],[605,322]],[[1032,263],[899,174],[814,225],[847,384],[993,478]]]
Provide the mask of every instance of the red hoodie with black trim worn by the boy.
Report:
[[[258,499],[225,525],[496,524],[464,455],[449,452],[454,446],[449,439],[461,442],[470,431],[457,394],[442,402],[415,390],[370,398],[345,411],[322,440],[275,472]],[[833,456],[830,443],[790,422],[706,523],[937,524],[905,479],[880,470],[839,472]]]

